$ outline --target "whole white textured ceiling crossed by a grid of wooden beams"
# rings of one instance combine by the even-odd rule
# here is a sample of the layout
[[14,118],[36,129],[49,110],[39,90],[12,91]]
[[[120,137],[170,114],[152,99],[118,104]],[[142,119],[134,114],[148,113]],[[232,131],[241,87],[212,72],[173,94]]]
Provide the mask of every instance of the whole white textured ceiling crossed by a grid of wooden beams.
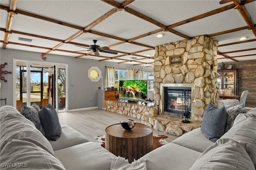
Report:
[[[254,27],[248,26],[250,24],[245,22],[243,14],[238,9],[234,9],[237,3],[235,1],[225,4],[220,4],[220,0],[14,0],[13,2],[16,9],[10,7],[10,0],[0,1],[2,48],[153,66],[155,46],[207,35],[219,42],[218,63],[256,59],[256,1],[254,0],[242,1],[244,4],[240,4],[241,7],[244,5],[243,8],[250,16],[250,22]],[[232,8],[223,12],[201,17],[207,12],[217,9],[220,11],[230,6]],[[9,9],[18,14],[13,15],[12,21],[8,19]],[[106,17],[102,18],[102,16]],[[177,24],[190,18],[193,19],[192,22]],[[90,28],[88,29],[87,26]],[[168,26],[172,26],[172,30],[168,30]],[[81,30],[84,30],[84,33],[68,40]],[[172,33],[173,30],[178,34]],[[8,38],[6,31],[12,33]],[[159,33],[164,36],[157,38],[156,35]],[[243,36],[248,38],[239,40]],[[20,41],[18,37],[33,39],[33,42]],[[68,41],[62,43],[65,40]],[[110,51],[118,54],[99,52],[100,56],[96,56],[90,51],[81,51],[87,50],[86,48],[75,46],[88,47],[93,44],[92,40],[98,40],[97,45],[108,46]],[[5,41],[7,43],[4,43]],[[55,49],[58,44],[60,46]]]

